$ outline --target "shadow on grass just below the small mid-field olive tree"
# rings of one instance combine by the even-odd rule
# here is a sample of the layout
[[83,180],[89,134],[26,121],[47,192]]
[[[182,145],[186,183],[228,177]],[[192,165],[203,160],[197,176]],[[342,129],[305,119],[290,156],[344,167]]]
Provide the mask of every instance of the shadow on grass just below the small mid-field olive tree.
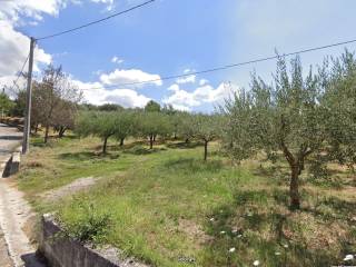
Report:
[[164,167],[174,171],[184,171],[184,172],[218,172],[222,169],[221,160],[199,160],[195,158],[178,158],[170,159],[165,162]]

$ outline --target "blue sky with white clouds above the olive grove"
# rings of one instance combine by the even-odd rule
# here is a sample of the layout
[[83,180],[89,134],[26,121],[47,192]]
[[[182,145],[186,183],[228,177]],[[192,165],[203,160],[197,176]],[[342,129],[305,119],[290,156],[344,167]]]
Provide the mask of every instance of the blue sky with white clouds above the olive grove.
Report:
[[[0,87],[16,79],[29,52],[29,37],[67,30],[144,1],[0,0]],[[275,60],[180,79],[116,85],[356,39],[355,10],[354,0],[156,0],[102,23],[39,40],[34,77],[53,63],[62,66],[86,102],[131,108],[155,100],[179,110],[211,112],[235,91],[248,89],[251,72],[271,81]],[[354,51],[356,43],[347,48]],[[300,55],[304,69],[344,49]],[[24,80],[18,83],[23,87]]]

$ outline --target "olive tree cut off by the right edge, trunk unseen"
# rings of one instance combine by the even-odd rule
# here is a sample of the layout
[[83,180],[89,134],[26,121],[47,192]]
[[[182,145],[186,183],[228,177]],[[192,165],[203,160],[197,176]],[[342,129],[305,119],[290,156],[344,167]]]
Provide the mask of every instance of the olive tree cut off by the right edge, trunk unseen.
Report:
[[[325,66],[328,66],[326,62]],[[322,69],[325,96],[322,105],[328,110],[326,122],[327,156],[346,165],[356,180],[356,59],[346,52]]]

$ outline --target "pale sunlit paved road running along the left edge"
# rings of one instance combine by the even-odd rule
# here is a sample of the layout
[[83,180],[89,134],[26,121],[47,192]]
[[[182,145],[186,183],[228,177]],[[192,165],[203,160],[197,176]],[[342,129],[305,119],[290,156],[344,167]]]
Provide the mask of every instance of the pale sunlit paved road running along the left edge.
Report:
[[[11,151],[20,145],[21,136],[21,132],[16,128],[0,125],[1,175],[3,162],[10,158]],[[0,178],[0,258],[3,258],[3,263],[2,259],[0,260],[0,266],[43,267],[36,259],[36,249],[22,230],[32,216],[29,204],[11,179]]]

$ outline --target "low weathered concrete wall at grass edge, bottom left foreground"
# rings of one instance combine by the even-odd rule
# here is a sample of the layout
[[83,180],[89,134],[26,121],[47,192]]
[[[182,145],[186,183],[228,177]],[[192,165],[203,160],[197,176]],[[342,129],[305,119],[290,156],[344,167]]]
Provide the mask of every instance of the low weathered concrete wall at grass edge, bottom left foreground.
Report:
[[132,259],[119,259],[113,248],[95,250],[63,237],[51,215],[43,215],[39,251],[52,267],[148,267]]

